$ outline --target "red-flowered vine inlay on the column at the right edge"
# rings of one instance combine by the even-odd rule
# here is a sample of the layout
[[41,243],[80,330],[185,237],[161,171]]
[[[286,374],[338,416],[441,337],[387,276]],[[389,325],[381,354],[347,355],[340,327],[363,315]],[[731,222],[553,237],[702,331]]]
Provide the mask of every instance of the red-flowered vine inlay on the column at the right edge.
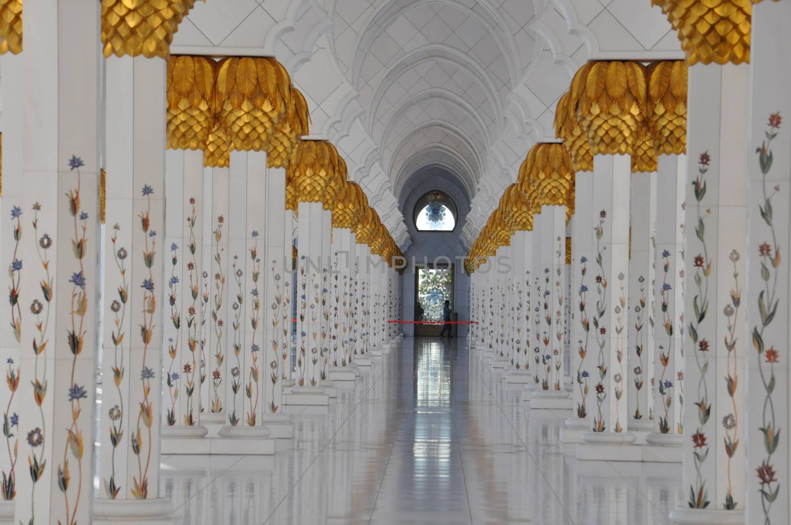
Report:
[[[759,430],[763,433],[763,448],[766,458],[763,459],[761,466],[756,469],[756,474],[760,483],[759,492],[761,493],[761,504],[766,525],[771,525],[772,523],[770,512],[781,487],[780,481],[775,478],[773,456],[778,450],[781,435],[781,429],[778,428],[778,421],[774,412],[774,386],[776,381],[774,368],[779,361],[776,348],[781,348],[782,346],[770,345],[764,339],[766,327],[774,322],[774,315],[780,302],[778,298],[778,278],[781,275],[780,265],[782,259],[780,257],[777,232],[774,229],[774,210],[772,207],[772,198],[778,194],[780,187],[775,186],[774,191],[772,191],[770,189],[771,183],[766,180],[766,176],[772,168],[773,155],[770,144],[778,136],[781,121],[782,118],[779,112],[770,115],[769,129],[765,132],[766,139],[757,150],[759,168],[763,176],[763,204],[759,206],[759,211],[766,225],[766,236],[771,238],[771,243],[764,241],[759,246],[760,274],[763,281],[763,289],[761,289],[758,296],[758,311],[761,323],[752,327],[752,344],[757,351],[758,370],[763,386],[764,399]],[[788,270],[784,271],[787,273]]]

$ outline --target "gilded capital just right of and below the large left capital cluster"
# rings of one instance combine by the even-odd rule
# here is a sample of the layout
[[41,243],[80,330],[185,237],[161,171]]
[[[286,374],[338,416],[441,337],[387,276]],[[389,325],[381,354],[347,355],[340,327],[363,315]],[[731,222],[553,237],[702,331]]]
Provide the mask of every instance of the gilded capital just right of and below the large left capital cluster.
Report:
[[286,182],[293,191],[293,195],[286,192],[287,201],[321,202],[325,210],[332,210],[335,196],[346,182],[346,162],[330,142],[300,141],[286,168]]

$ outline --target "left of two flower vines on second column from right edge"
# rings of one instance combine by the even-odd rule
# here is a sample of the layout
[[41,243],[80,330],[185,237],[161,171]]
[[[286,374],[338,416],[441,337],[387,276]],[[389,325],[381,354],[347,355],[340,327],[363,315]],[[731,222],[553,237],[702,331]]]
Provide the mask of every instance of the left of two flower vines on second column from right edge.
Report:
[[[694,440],[694,469],[695,482],[690,486],[690,499],[687,502],[690,508],[706,508],[709,506],[709,494],[706,489],[706,480],[703,479],[702,465],[706,463],[709,455],[709,447],[706,444],[706,436],[702,429],[709,421],[711,416],[711,405],[709,403],[709,389],[706,377],[709,370],[708,342],[702,334],[698,332],[701,323],[706,319],[709,309],[709,276],[711,274],[712,261],[709,259],[709,251],[706,245],[706,212],[701,208],[701,202],[706,195],[706,172],[709,170],[710,156],[708,152],[700,155],[698,160],[698,176],[692,182],[695,198],[695,210],[697,224],[695,225],[695,236],[702,244],[702,254],[694,257],[694,283],[695,296],[692,301],[693,319],[689,323],[689,334],[692,339],[694,361],[700,373],[698,380],[698,399],[695,406],[698,407],[698,428],[693,434]],[[695,440],[698,436],[698,440]],[[702,438],[702,440],[701,440]]]

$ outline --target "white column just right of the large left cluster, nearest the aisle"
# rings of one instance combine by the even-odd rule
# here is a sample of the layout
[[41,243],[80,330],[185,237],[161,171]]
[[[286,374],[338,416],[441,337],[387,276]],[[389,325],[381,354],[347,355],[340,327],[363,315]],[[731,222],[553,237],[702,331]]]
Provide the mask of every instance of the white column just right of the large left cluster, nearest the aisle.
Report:
[[330,236],[330,212],[321,202],[298,204],[297,384],[293,394],[324,394],[321,381],[322,247]]

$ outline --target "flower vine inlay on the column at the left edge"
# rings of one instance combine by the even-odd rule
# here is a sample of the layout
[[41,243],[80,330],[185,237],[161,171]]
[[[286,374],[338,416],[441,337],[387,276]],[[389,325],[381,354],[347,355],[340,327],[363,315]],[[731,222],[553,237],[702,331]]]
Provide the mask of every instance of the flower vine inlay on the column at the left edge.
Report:
[[[9,305],[11,307],[11,327],[13,328],[13,335],[16,338],[17,342],[21,342],[21,331],[22,331],[22,310],[20,300],[20,280],[21,280],[21,272],[22,272],[22,261],[18,259],[19,255],[19,243],[22,239],[22,223],[21,223],[21,215],[22,210],[19,206],[12,206],[11,207],[11,221],[13,223],[13,253],[11,255],[11,264],[9,264],[9,277],[10,277],[10,288],[8,294]],[[40,247],[44,247],[44,244],[47,244],[47,247],[51,246],[52,240],[49,236],[46,238],[41,238]],[[36,313],[40,312],[43,309],[43,305],[39,300],[34,300],[30,306],[31,312]],[[6,410],[3,412],[3,426],[2,426],[2,433],[3,436],[6,436],[6,449],[8,450],[9,456],[9,470],[8,472],[2,473],[2,497],[5,500],[13,500],[14,497],[17,495],[17,442],[19,438],[13,433],[13,427],[17,427],[19,424],[19,416],[17,413],[11,412],[11,406],[13,403],[13,397],[17,393],[17,388],[19,387],[19,367],[16,369],[13,368],[13,359],[9,357],[6,360],[6,364],[8,364],[8,371],[6,372],[6,384],[8,385],[9,391],[11,391],[11,395],[8,399],[8,404],[6,405]],[[18,432],[18,430],[17,430]],[[13,441],[12,441],[13,440]]]

